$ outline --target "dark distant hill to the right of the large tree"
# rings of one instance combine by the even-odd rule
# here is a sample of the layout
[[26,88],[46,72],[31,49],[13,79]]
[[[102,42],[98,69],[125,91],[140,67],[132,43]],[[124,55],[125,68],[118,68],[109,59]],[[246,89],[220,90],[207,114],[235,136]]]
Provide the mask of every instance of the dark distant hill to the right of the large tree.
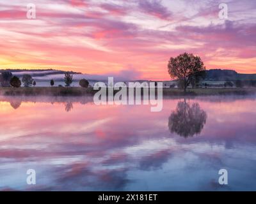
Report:
[[227,80],[256,80],[256,74],[240,74],[228,69],[209,69],[206,71],[205,80],[227,81]]

